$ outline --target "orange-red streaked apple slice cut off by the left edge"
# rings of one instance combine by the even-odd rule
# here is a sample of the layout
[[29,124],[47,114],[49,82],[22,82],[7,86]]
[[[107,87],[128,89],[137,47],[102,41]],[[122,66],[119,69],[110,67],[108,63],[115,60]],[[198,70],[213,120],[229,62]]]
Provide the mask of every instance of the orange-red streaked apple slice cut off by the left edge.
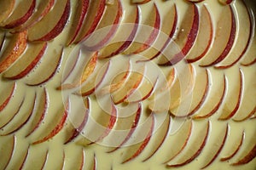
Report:
[[4,49],[0,58],[0,73],[6,71],[10,65],[13,65],[20,55],[26,50],[27,31],[23,31],[13,35],[7,48]]

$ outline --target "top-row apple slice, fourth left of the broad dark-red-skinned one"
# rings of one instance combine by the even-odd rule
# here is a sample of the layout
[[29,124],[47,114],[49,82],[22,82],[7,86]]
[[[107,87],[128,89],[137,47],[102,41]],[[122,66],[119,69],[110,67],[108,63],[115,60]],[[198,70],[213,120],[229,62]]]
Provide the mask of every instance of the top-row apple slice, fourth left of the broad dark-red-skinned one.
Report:
[[113,38],[113,35],[119,28],[119,22],[122,16],[122,4],[120,0],[114,0],[113,5],[109,5],[106,8],[96,30],[89,37],[85,38],[86,41],[84,39],[82,40],[84,41],[84,48],[90,51],[96,51],[104,47]]

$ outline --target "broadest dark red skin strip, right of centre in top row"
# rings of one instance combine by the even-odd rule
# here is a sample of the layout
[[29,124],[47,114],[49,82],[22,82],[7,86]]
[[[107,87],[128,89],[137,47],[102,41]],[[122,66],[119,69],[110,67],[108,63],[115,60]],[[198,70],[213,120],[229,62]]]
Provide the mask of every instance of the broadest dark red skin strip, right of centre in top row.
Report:
[[166,63],[160,64],[160,65],[170,66],[170,65],[177,64],[179,61],[181,61],[182,59],[185,58],[185,56],[189,53],[189,50],[193,47],[193,45],[195,43],[195,38],[198,33],[198,29],[199,29],[199,11],[195,4],[193,4],[193,8],[194,8],[193,24],[189,31],[188,39],[187,39],[187,42],[185,43],[183,49],[181,50],[180,53],[175,54],[172,57],[172,59],[170,59]]

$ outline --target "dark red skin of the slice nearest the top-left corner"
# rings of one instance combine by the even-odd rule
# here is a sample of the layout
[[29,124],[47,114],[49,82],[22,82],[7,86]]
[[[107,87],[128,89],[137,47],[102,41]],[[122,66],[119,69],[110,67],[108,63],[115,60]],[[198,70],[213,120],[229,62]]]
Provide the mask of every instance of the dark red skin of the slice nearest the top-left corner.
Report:
[[26,12],[26,14],[21,16],[19,19],[13,20],[9,24],[3,26],[3,28],[5,28],[5,29],[13,29],[13,28],[15,28],[17,26],[20,26],[20,25],[24,24],[26,22],[26,20],[28,20],[32,16],[32,14],[33,14],[33,12],[35,10],[35,7],[36,7],[36,0],[33,0],[32,4],[31,4],[30,8],[28,9],[28,11]]

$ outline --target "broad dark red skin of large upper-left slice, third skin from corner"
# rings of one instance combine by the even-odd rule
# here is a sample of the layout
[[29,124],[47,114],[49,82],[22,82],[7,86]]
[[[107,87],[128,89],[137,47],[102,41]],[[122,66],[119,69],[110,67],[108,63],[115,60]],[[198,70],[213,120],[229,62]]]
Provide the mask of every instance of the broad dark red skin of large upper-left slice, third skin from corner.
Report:
[[70,0],[67,0],[67,4],[66,7],[64,9],[63,14],[61,15],[61,19],[58,21],[58,23],[56,24],[56,26],[49,31],[46,35],[44,35],[44,37],[40,37],[37,40],[33,40],[33,41],[50,41],[52,39],[54,39],[55,37],[57,37],[64,29],[64,27],[66,26],[69,14],[70,14]]

